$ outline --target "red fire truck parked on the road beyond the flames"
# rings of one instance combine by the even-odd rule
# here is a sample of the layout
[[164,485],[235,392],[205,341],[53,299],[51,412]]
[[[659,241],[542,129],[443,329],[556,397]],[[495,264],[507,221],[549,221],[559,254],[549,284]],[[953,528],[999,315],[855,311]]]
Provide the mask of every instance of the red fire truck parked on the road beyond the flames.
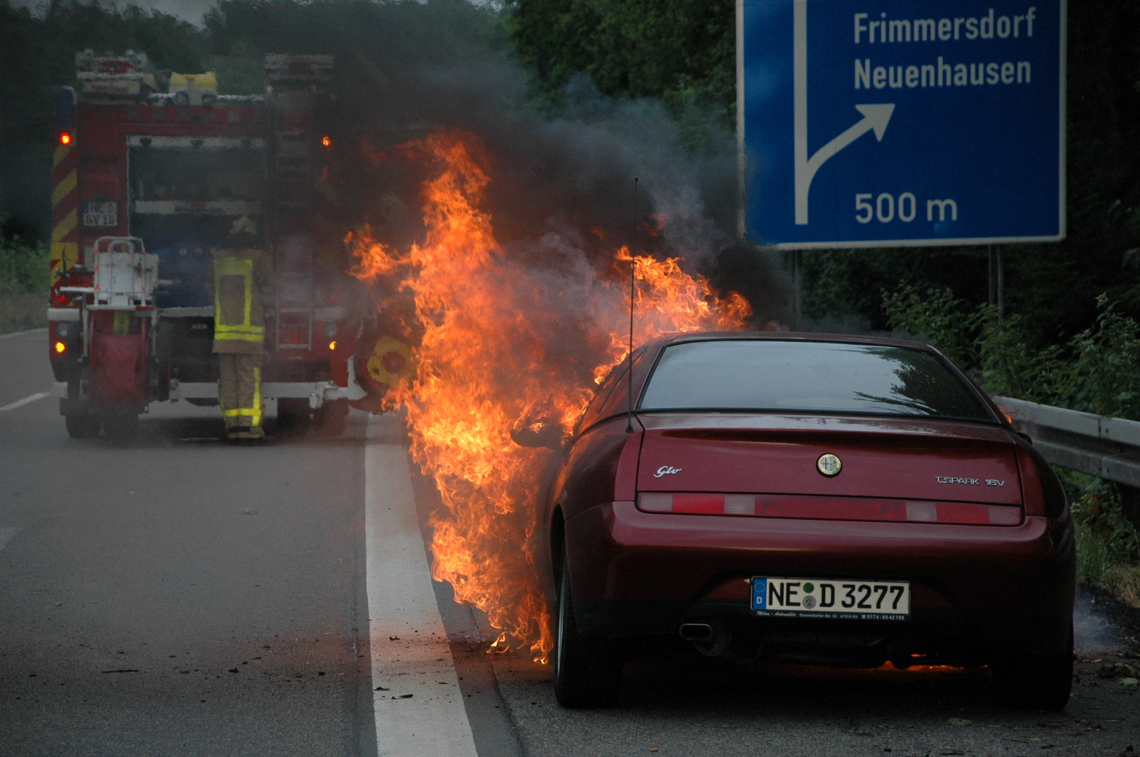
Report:
[[[349,402],[399,373],[406,345],[372,353],[375,308],[345,272],[318,115],[332,82],[331,56],[269,55],[264,95],[227,96],[213,74],[156,72],[145,54],[76,55],[56,103],[48,309],[73,438],[130,437],[152,402],[218,402],[207,271],[242,217],[272,258],[261,392],[278,424],[339,433]],[[361,363],[374,369],[357,381]]]

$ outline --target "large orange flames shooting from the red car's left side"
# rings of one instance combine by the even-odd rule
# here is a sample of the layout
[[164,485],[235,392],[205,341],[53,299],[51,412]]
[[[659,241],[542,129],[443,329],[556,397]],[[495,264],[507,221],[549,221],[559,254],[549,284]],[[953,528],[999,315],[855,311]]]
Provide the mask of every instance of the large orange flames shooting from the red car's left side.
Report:
[[632,258],[626,247],[601,270],[580,254],[512,260],[480,209],[490,180],[480,140],[447,131],[404,152],[437,170],[423,189],[423,243],[398,251],[367,227],[348,241],[359,261],[353,272],[367,282],[394,277],[423,331],[415,373],[389,400],[406,409],[412,456],[442,499],[430,521],[432,576],[503,630],[497,650],[510,636],[545,660],[552,636],[536,531],[552,453],[520,447],[512,429],[546,417],[569,433],[596,383],[626,357],[630,263],[638,342],[739,329],[751,310],[739,294],[719,298],[679,260]]

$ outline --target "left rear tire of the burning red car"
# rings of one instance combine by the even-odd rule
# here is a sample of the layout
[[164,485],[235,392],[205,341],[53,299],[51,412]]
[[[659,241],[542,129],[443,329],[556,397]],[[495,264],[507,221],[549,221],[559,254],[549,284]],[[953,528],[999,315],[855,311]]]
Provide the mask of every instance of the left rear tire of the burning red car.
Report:
[[578,633],[570,594],[569,560],[563,554],[554,640],[555,699],[562,707],[617,705],[621,692],[621,650],[616,641]]

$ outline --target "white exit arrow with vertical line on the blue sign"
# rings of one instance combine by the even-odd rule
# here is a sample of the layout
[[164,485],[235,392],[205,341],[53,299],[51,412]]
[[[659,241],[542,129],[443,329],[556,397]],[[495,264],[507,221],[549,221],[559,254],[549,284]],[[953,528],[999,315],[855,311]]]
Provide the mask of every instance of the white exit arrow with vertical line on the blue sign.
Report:
[[856,105],[855,108],[863,114],[863,120],[821,147],[809,160],[807,157],[807,0],[796,0],[792,15],[795,26],[792,30],[795,33],[792,76],[796,89],[796,225],[804,226],[807,223],[807,192],[812,187],[815,172],[836,153],[869,131],[873,130],[874,138],[882,141],[882,135],[887,131],[887,123],[895,112],[895,105],[894,103]]

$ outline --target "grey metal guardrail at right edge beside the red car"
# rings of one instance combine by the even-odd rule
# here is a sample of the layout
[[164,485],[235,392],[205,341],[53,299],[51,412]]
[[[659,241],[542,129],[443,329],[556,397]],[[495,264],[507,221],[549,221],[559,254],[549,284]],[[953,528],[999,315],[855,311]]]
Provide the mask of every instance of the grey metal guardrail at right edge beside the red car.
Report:
[[1140,489],[1140,422],[1011,397],[993,400],[1050,464]]

